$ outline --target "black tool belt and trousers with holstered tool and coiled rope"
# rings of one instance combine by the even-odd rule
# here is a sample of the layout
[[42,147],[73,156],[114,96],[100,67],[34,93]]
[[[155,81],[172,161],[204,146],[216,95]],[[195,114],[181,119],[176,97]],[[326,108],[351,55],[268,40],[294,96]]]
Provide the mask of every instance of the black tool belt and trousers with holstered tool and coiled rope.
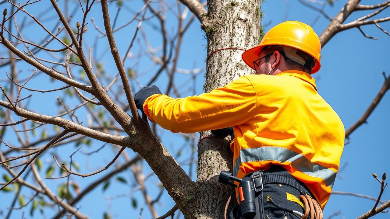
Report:
[[[271,170],[272,169],[272,170]],[[300,219],[323,219],[323,212],[318,202],[312,198],[310,191],[305,188],[298,180],[293,178],[288,171],[282,170],[281,167],[273,166],[271,171],[254,171],[249,173],[245,177],[238,178],[232,176],[232,173],[227,171],[221,171],[218,181],[226,185],[232,185],[237,188],[237,185],[233,181],[238,182],[238,202],[230,214],[227,214],[227,208],[229,202],[234,194],[229,197],[229,200],[225,206],[224,218],[227,219],[273,219],[264,210],[264,206],[268,206],[266,203],[272,203],[275,208],[285,212],[287,218],[287,212],[295,215]],[[264,188],[271,185],[275,187],[272,192],[269,188],[264,193]],[[297,198],[290,190],[284,190],[282,187],[287,185],[286,188],[300,193],[301,195]],[[284,194],[284,195],[281,195]],[[286,198],[283,198],[285,196]],[[277,198],[277,200],[274,200]],[[281,202],[285,200],[285,202]],[[302,203],[303,202],[303,203]],[[300,212],[298,208],[291,209],[291,203],[299,204],[304,210]],[[293,204],[296,205],[296,204]],[[297,205],[298,206],[298,205]]]

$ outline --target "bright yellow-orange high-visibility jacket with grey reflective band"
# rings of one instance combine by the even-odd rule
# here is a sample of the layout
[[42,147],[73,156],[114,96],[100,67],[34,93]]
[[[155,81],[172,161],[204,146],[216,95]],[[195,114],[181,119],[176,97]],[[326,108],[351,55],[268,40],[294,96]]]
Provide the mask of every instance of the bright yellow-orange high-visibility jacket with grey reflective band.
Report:
[[344,125],[303,71],[241,76],[225,87],[185,98],[155,94],[146,115],[172,132],[233,126],[234,176],[271,164],[301,180],[324,208],[344,147]]

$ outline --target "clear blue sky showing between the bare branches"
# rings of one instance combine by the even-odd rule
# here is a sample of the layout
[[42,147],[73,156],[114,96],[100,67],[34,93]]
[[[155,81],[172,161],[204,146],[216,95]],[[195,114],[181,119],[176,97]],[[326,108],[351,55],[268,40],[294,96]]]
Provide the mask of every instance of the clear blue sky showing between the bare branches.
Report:
[[[58,1],[61,5],[62,1]],[[378,0],[363,0],[362,4],[378,4],[381,1]],[[49,7],[48,2],[43,2],[40,5],[32,5],[27,7],[27,10],[32,14],[39,14],[42,9]],[[334,16],[337,12],[342,8],[342,5],[345,1],[336,1],[334,6],[326,6],[325,11],[330,15]],[[142,7],[142,3],[140,1],[125,1],[125,4],[138,11]],[[170,2],[172,4],[172,2]],[[63,4],[62,4],[63,5]],[[4,5],[1,5],[1,10],[3,10]],[[184,8],[184,7],[183,7]],[[69,11],[73,9],[73,6],[69,8]],[[110,14],[113,19],[114,10],[116,6],[110,4]],[[266,26],[266,30],[269,30],[272,26],[285,21],[285,20],[298,20],[304,23],[311,24],[312,21],[317,17],[317,12],[312,11],[303,5],[301,5],[298,1],[293,0],[266,0],[264,4],[262,4],[262,11],[265,14],[264,19],[262,20],[262,24],[269,24]],[[388,16],[390,10],[386,9],[379,16],[374,18],[380,18],[383,16]],[[361,11],[358,13],[352,14],[347,19],[347,22],[353,21],[356,18],[367,14],[367,11]],[[53,9],[50,9],[50,13],[48,13],[45,18],[49,20],[46,21],[45,24],[53,27],[53,19],[50,15],[53,15]],[[147,15],[150,15],[147,13]],[[18,22],[21,22],[21,15],[17,14]],[[77,19],[81,17],[80,11],[72,20],[73,25]],[[92,11],[90,12],[89,18],[93,17],[99,26],[100,29],[104,29],[102,24],[102,16],[101,16],[101,7],[99,2],[96,3],[92,7]],[[131,18],[131,14],[128,11],[122,9],[122,12],[118,19],[118,26],[125,23],[129,18]],[[190,16],[186,18],[186,21]],[[88,46],[92,46],[94,44],[94,36],[97,34],[96,30],[94,30],[90,19],[87,19],[89,22],[89,30],[85,34],[85,51],[87,51]],[[56,19],[54,19],[57,21]],[[158,30],[154,30],[152,24],[156,24],[156,20],[151,20],[143,23],[143,27],[145,28],[145,32],[147,33],[148,39],[152,45],[152,47],[157,48],[161,46],[161,37],[158,34]],[[321,16],[318,21],[313,26],[314,30],[317,34],[321,34],[324,28],[328,25],[329,21],[324,19]],[[172,16],[172,13],[167,13],[167,30],[170,35],[172,35],[173,30],[176,30],[177,21]],[[130,26],[124,28],[123,30],[115,33],[115,39],[117,41],[117,45],[119,48],[119,52],[121,56],[124,55],[128,44],[133,37],[135,26],[137,23],[133,23]],[[381,23],[380,24],[385,30],[390,31],[390,22]],[[33,39],[38,41],[42,38],[40,34],[28,34],[31,33],[35,26],[31,25],[25,29],[25,36],[27,39]],[[321,70],[314,75],[316,78],[317,88],[319,93],[324,97],[324,99],[335,109],[340,118],[342,119],[344,126],[346,129],[350,127],[356,120],[364,113],[372,99],[378,93],[380,87],[383,84],[383,76],[382,71],[386,72],[386,75],[390,75],[390,65],[388,64],[388,49],[390,48],[390,37],[383,32],[381,32],[374,25],[363,26],[362,29],[365,31],[367,35],[371,35],[374,37],[379,37],[378,40],[367,39],[363,37],[363,35],[355,28],[351,30],[346,30],[344,32],[340,32],[335,35],[322,49],[322,67]],[[140,34],[140,33],[139,33]],[[140,36],[140,35],[138,35]],[[140,44],[139,44],[140,42]],[[181,47],[181,55],[178,60],[178,68],[180,69],[191,69],[191,68],[204,68],[205,67],[205,58],[206,54],[206,44],[207,41],[204,38],[204,32],[200,29],[199,21],[195,20],[188,31],[184,35],[182,47]],[[50,48],[58,48],[58,44],[51,44]],[[101,46],[100,46],[101,45]],[[137,54],[142,51],[140,48],[142,46],[145,48],[145,44],[142,40],[136,40],[135,46],[131,49],[133,54]],[[23,46],[19,46],[18,48],[22,49]],[[101,58],[101,62],[104,63],[105,71],[107,74],[115,75],[115,64],[113,63],[110,51],[106,48],[106,38],[99,39],[99,46],[97,46],[96,52]],[[0,47],[1,54],[4,54],[5,48]],[[100,55],[101,54],[101,55]],[[161,54],[161,51],[158,51],[157,54]],[[42,58],[48,58],[49,56],[46,53],[40,53]],[[49,57],[50,58],[50,57]],[[135,64],[135,60],[128,59],[126,60],[126,67],[131,67]],[[150,66],[152,66],[150,68]],[[140,64],[135,67],[135,70],[140,73],[146,71],[143,75],[138,75],[137,78],[142,85],[147,83],[151,78],[152,74],[154,74],[155,70],[158,68],[155,64],[153,64],[150,58],[144,57],[140,60]],[[21,77],[27,77],[31,73],[31,66],[24,64],[22,62],[18,62],[18,69],[23,70],[20,74]],[[1,79],[6,78],[5,71],[9,72],[9,67],[3,67],[0,69],[2,71]],[[75,70],[76,71],[76,70]],[[183,96],[192,95],[191,86],[192,83],[188,83],[188,80],[191,76],[185,74],[177,74],[175,76],[175,83],[177,87],[181,87],[180,91]],[[4,85],[5,82],[1,81],[0,84]],[[195,93],[202,93],[202,85],[204,83],[204,71],[200,72],[196,75],[196,87]],[[161,90],[166,90],[167,87],[167,75],[165,73],[161,74],[158,81],[155,83],[158,85]],[[42,88],[42,89],[50,89],[50,88],[58,88],[62,86],[62,83],[54,82],[52,83],[48,76],[39,74],[34,77],[31,81],[28,82],[28,87],[30,88]],[[183,85],[183,86],[180,86]],[[135,92],[138,88],[134,84],[133,92]],[[21,93],[21,97],[25,97],[30,92],[23,91]],[[63,92],[59,93],[45,93],[41,94],[35,92],[33,97],[31,98],[31,104],[29,105],[30,109],[34,109],[35,111],[46,114],[46,115],[56,115],[58,113],[58,106],[55,104],[55,100],[57,96],[62,95]],[[79,102],[75,99],[66,99],[67,104],[74,106]],[[340,162],[340,166],[346,165],[346,167],[339,173],[339,176],[335,182],[335,186],[333,187],[336,191],[346,191],[353,193],[361,193],[369,196],[377,197],[379,194],[380,185],[374,178],[372,178],[371,174],[373,172],[377,173],[378,176],[381,176],[384,172],[389,172],[389,141],[388,135],[389,133],[389,122],[390,115],[388,113],[390,106],[390,95],[386,94],[381,102],[378,104],[378,107],[374,110],[372,115],[368,118],[368,124],[364,124],[359,127],[350,137],[350,143],[345,146],[344,152],[342,155],[342,159]],[[81,120],[85,120],[86,111],[81,109],[76,111]],[[16,117],[15,117],[16,119]],[[22,129],[20,127],[20,129]],[[47,127],[46,132],[53,133],[52,127]],[[11,130],[9,130],[4,140],[8,142],[15,142],[15,136]],[[176,155],[178,148],[181,148],[182,145],[185,145],[182,155],[178,158],[178,162],[185,162],[188,160],[188,157],[191,153],[191,148],[188,144],[186,144],[183,136],[180,134],[172,134],[168,131],[163,131],[161,128],[158,133],[161,136],[161,141],[168,148],[168,150]],[[38,131],[37,136],[40,136],[40,131]],[[33,136],[31,138],[34,139]],[[92,141],[92,146],[86,147],[82,150],[92,151],[101,147],[103,143],[98,141]],[[4,145],[1,145],[2,150],[4,150]],[[44,161],[44,167],[42,170],[42,175],[44,175],[44,170],[46,170],[47,166],[53,163],[53,159],[51,158],[51,153],[63,154],[63,159],[67,159],[69,161],[69,155],[73,153],[75,150],[74,145],[64,145],[62,147],[51,150],[48,153],[45,153],[42,157]],[[131,150],[126,150],[130,157],[135,156],[134,152]],[[105,147],[99,153],[96,153],[90,157],[85,158],[82,154],[74,155],[74,160],[77,160],[82,167],[81,172],[87,173],[102,166],[105,166],[112,157],[115,155],[111,147]],[[196,154],[196,153],[195,153]],[[123,162],[123,160],[119,159],[117,162]],[[184,170],[188,171],[188,166],[183,165]],[[109,170],[108,170],[109,171]],[[192,169],[193,179],[196,179],[195,168]],[[144,173],[148,174],[151,170],[146,163],[144,163]],[[4,170],[0,169],[0,175],[3,175]],[[55,174],[58,175],[58,170],[56,169]],[[80,178],[80,177],[72,177],[72,180],[76,180],[80,187],[88,185],[90,182],[93,182],[97,178],[101,177],[105,173],[101,173],[100,175],[95,175],[88,178]],[[108,208],[113,213],[113,218],[135,218],[140,212],[140,207],[146,208],[142,212],[142,217],[144,219],[151,218],[151,214],[147,210],[145,206],[142,195],[139,192],[134,194],[126,195],[124,198],[116,198],[110,201],[110,205],[104,198],[105,196],[116,196],[120,194],[128,194],[131,189],[131,182],[134,182],[133,176],[130,171],[124,171],[121,174],[117,175],[123,178],[126,178],[128,184],[119,184],[116,183],[115,186],[110,185],[106,191],[102,191],[103,184],[96,187],[96,189],[85,196],[83,200],[79,203],[78,207],[84,213],[89,215],[91,218],[101,218],[103,217],[103,212],[107,211]],[[113,179],[114,180],[114,179]],[[157,178],[152,176],[147,181],[147,187],[150,195],[154,198],[158,194],[158,185]],[[56,191],[57,185],[64,183],[65,180],[45,180],[50,188],[53,191]],[[113,183],[113,182],[112,182]],[[23,189],[24,194],[27,197],[32,195],[32,192],[26,188]],[[22,191],[22,192],[23,192]],[[10,200],[13,196],[12,193],[2,193],[0,192],[0,196],[2,200]],[[131,199],[137,199],[137,208],[133,208],[131,205]],[[382,200],[389,200],[390,193],[388,189],[385,190],[382,196]],[[4,204],[3,204],[4,203]],[[2,205],[0,209],[3,212],[6,212],[6,207],[9,205],[9,201],[2,201]],[[156,205],[158,210],[158,214],[162,215],[167,210],[169,210],[174,205],[172,199],[165,192],[160,200],[160,202]],[[325,210],[324,210],[324,218],[327,218],[329,215],[334,212],[342,211],[342,214],[335,216],[334,218],[356,218],[357,216],[367,212],[374,205],[374,201],[365,200],[362,198],[356,198],[351,196],[340,196],[340,195],[332,195],[330,201],[328,202]],[[25,208],[25,215],[27,218],[28,211],[30,210],[30,206]],[[14,210],[12,213],[12,218],[20,218],[23,210]],[[45,209],[45,214],[47,217],[50,217],[54,214],[53,210]],[[389,218],[390,213],[381,213],[375,216],[378,219]],[[35,212],[35,216],[37,218],[40,217],[39,212]],[[182,216],[181,216],[182,217]]]

